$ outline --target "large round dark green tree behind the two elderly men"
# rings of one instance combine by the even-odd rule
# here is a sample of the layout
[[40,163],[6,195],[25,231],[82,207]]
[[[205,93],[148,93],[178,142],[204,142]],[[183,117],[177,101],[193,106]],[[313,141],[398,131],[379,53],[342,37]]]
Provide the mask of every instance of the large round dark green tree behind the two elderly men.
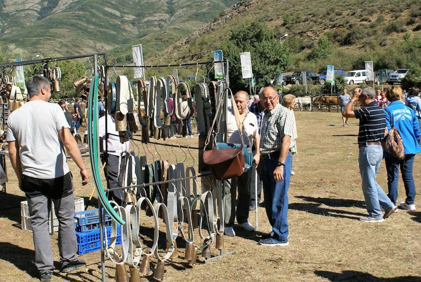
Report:
[[253,21],[230,31],[222,44],[224,56],[229,62],[229,81],[234,91],[248,89],[248,80],[242,79],[241,52],[250,52],[256,87],[267,86],[277,72],[290,64],[290,51],[274,38],[266,24]]

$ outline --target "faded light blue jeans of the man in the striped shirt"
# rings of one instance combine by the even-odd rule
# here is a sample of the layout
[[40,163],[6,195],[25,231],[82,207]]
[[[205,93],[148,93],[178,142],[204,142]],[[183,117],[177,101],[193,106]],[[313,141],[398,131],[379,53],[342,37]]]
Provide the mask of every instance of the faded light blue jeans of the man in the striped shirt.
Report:
[[368,216],[382,218],[380,206],[384,210],[393,207],[392,201],[386,196],[383,189],[376,181],[376,175],[383,158],[383,149],[380,145],[366,145],[360,148],[358,163],[362,179],[362,192],[364,193],[365,206]]

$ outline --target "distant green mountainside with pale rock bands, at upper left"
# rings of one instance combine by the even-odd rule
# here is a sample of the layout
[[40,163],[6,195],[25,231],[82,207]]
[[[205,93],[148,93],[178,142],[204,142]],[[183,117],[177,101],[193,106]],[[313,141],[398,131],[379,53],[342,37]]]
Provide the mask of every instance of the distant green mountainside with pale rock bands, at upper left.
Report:
[[[211,21],[235,0],[0,1],[3,60],[108,52],[125,59],[134,44],[157,54]],[[131,51],[130,51],[131,52]],[[19,53],[19,52],[18,52]]]

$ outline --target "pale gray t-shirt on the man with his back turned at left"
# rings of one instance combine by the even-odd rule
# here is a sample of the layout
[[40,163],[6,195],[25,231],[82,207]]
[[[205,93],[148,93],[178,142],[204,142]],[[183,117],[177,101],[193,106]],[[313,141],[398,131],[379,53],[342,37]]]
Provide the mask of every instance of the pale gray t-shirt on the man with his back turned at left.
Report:
[[58,104],[29,101],[13,111],[7,124],[7,141],[19,143],[22,173],[52,179],[69,172],[57,130],[69,128]]

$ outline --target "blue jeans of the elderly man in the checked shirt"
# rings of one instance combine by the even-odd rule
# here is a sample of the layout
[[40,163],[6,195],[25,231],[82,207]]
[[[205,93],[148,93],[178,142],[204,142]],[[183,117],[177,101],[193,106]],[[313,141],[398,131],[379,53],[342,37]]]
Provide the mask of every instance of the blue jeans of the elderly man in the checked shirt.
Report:
[[263,182],[264,202],[267,218],[272,226],[273,238],[288,238],[288,188],[291,178],[292,154],[289,152],[285,160],[284,180],[275,182],[273,171],[278,163],[279,155],[260,160],[260,179]]

